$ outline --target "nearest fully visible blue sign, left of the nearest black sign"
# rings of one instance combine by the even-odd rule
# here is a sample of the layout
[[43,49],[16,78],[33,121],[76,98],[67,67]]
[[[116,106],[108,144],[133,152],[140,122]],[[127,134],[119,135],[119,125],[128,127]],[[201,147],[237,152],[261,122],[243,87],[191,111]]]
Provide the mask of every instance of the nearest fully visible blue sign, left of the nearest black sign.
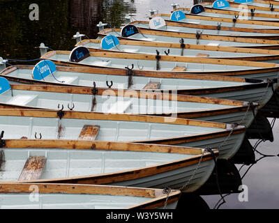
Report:
[[33,68],[33,79],[40,81],[48,75],[53,74],[55,71],[56,66],[52,61],[40,61]]

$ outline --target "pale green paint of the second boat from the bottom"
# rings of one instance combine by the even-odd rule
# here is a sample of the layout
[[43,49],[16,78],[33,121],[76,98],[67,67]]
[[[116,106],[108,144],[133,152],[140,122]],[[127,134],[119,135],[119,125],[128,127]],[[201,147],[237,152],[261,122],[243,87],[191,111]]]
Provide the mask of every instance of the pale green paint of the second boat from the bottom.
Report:
[[[40,179],[57,179],[82,177],[89,175],[99,176],[117,171],[132,171],[142,167],[151,167],[157,164],[174,162],[176,160],[193,157],[193,155],[178,153],[151,153],[132,151],[74,151],[59,149],[2,149],[6,163],[0,172],[0,180],[17,180],[20,176],[24,163],[30,155],[47,157],[45,169]],[[215,166],[214,161],[207,160],[188,167],[181,167],[172,171],[134,180],[123,180],[108,185],[121,185],[131,187],[153,187],[179,189],[184,192],[194,192],[201,187],[211,175]],[[195,169],[197,171],[195,172]],[[193,175],[195,173],[195,175]],[[0,195],[1,196],[1,195]]]

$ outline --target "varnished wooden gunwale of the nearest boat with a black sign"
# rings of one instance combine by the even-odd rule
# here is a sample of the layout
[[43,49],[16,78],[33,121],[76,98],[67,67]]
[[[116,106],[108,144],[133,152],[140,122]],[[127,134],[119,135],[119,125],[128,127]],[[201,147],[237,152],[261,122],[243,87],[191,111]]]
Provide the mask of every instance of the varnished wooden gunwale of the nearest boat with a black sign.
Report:
[[[279,42],[278,42],[279,43]],[[53,54],[53,52],[52,52]],[[63,54],[63,55],[70,55],[69,51],[56,51],[56,54]],[[49,53],[41,56],[41,59],[50,59]],[[149,60],[149,61],[156,61],[156,56],[152,54],[126,54],[123,52],[91,52],[90,56],[96,57],[105,57],[105,58],[112,58],[112,59],[137,59],[137,60]],[[90,64],[84,64],[82,61],[80,63],[74,62],[64,62],[59,61],[56,59],[51,59],[57,63],[70,63],[81,66],[91,66]],[[229,65],[229,66],[252,66],[255,68],[250,68],[247,70],[255,70],[260,68],[279,68],[277,63],[264,63],[264,62],[254,62],[254,61],[241,61],[241,60],[228,60],[228,59],[211,59],[211,58],[204,58],[204,57],[193,57],[193,56],[160,56],[160,61],[177,61],[183,63],[209,63],[209,64],[216,64],[216,65]],[[164,71],[165,72],[165,71]],[[187,72],[187,71],[186,71]],[[189,71],[192,72],[192,71]],[[218,72],[218,70],[213,70],[211,72]],[[233,72],[233,70],[229,71]]]

